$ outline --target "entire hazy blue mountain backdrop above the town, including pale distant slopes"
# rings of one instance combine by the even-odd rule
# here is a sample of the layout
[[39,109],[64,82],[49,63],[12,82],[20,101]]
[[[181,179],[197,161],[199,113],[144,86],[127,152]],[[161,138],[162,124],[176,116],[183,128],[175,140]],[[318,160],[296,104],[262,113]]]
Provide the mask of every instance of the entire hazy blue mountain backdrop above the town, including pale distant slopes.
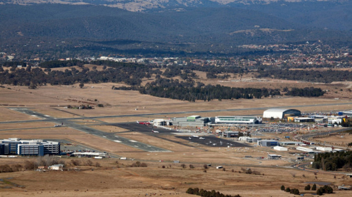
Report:
[[[116,8],[141,2],[143,12]],[[271,3],[263,4],[267,2]],[[5,0],[1,4],[0,49],[27,55],[44,49],[229,54],[242,44],[352,39],[351,1]]]

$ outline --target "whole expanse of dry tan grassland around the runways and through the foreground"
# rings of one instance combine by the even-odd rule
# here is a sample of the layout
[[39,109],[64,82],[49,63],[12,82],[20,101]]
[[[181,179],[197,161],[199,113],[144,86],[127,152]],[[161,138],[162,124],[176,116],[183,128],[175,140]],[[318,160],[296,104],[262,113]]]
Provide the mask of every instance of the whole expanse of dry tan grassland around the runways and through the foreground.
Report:
[[[97,69],[100,69],[99,67]],[[200,75],[201,73],[199,73]],[[237,77],[237,76],[236,76]],[[308,83],[292,83],[292,81],[228,81],[199,79],[206,84],[224,84],[236,87],[292,87],[308,86]],[[281,191],[280,186],[298,188],[303,191],[306,181],[327,181],[333,185],[352,184],[352,178],[342,174],[313,172],[290,168],[294,158],[287,152],[274,151],[265,147],[219,148],[189,142],[173,135],[152,136],[135,131],[99,125],[101,123],[121,123],[147,121],[156,118],[173,118],[191,115],[213,117],[219,115],[262,115],[263,110],[247,108],[295,107],[301,111],[338,111],[352,109],[349,99],[348,84],[312,84],[309,86],[331,89],[333,93],[319,98],[305,97],[274,97],[253,100],[232,101],[197,101],[195,103],[171,99],[162,99],[150,95],[140,94],[138,91],[112,90],[114,83],[85,84],[84,88],[75,85],[39,86],[28,89],[22,86],[4,85],[0,89],[0,139],[62,139],[106,151],[112,156],[133,158],[134,161],[107,158],[93,160],[101,167],[72,166],[70,159],[62,158],[70,171],[20,171],[0,173],[0,196],[193,196],[186,194],[189,187],[199,187],[207,190],[219,190],[225,194],[240,194],[241,196],[294,196]],[[337,89],[336,89],[337,88]],[[343,89],[343,96],[339,100],[333,98]],[[337,91],[338,93],[335,93]],[[345,92],[348,92],[345,94]],[[348,94],[348,95],[347,95]],[[97,100],[97,101],[95,101]],[[79,105],[94,106],[93,110],[65,109],[64,106]],[[104,108],[98,108],[103,104]],[[325,106],[319,106],[325,105]],[[70,127],[53,127],[51,122],[20,122],[39,120],[11,110],[10,108],[28,108],[55,118],[81,118],[72,120],[79,125],[89,126],[106,133],[116,133],[130,140],[144,142],[172,152],[145,152],[143,150],[116,143],[95,135],[87,134]],[[288,107],[289,108],[289,107]],[[293,107],[290,107],[293,108]],[[233,110],[216,112],[216,110]],[[187,113],[189,111],[208,111]],[[180,114],[167,114],[180,112]],[[166,113],[163,115],[147,114]],[[129,116],[126,116],[129,115]],[[131,116],[133,115],[133,117]],[[107,116],[107,117],[103,117]],[[123,117],[115,117],[123,116]],[[91,119],[90,117],[97,117]],[[284,134],[282,134],[284,135]],[[281,136],[282,137],[282,136]],[[349,140],[349,136],[344,136]],[[326,140],[326,138],[324,138]],[[330,141],[339,139],[329,139]],[[280,154],[280,160],[257,159],[267,157],[268,154]],[[245,158],[251,155],[252,158]],[[26,160],[36,158],[0,158],[0,165],[25,164]],[[89,158],[75,158],[84,163]],[[162,160],[163,162],[158,162]],[[180,160],[181,163],[173,163]],[[118,161],[119,163],[116,163]],[[148,167],[128,167],[132,162],[146,162]],[[181,164],[185,163],[186,168]],[[203,171],[203,165],[211,163],[212,167]],[[195,168],[190,169],[189,164]],[[162,166],[165,168],[162,168]],[[226,171],[215,169],[216,165],[223,165]],[[278,166],[276,166],[278,165]],[[241,168],[251,168],[258,173],[239,173]],[[76,168],[76,170],[74,170]],[[93,171],[91,169],[94,169]],[[234,172],[232,172],[232,169]],[[294,174],[294,176],[293,176]],[[304,176],[303,176],[304,174]],[[5,180],[5,181],[4,181]],[[23,185],[18,187],[16,185]],[[324,196],[351,196],[351,191],[338,191]],[[153,193],[153,194],[152,194]]]

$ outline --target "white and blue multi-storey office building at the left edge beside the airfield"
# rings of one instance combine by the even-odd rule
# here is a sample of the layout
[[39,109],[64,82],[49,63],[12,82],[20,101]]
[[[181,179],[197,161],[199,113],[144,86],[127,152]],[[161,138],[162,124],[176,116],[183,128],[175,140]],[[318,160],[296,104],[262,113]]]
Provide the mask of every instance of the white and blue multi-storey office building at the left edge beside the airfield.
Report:
[[[8,152],[4,154],[17,154],[23,156],[57,155],[60,153],[60,142],[46,140],[21,140],[21,138],[9,138],[0,140]],[[0,153],[3,153],[3,145],[0,145]]]

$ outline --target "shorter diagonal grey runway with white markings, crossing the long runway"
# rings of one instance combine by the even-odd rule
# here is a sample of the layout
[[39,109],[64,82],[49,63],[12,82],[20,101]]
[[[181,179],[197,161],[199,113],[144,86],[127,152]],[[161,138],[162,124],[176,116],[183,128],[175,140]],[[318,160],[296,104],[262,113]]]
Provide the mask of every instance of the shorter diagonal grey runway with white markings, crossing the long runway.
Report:
[[65,120],[64,119],[60,119],[59,120],[59,119],[56,119],[54,117],[51,117],[51,116],[48,116],[48,115],[44,115],[44,114],[41,114],[41,113],[38,113],[38,112],[34,112],[34,111],[26,109],[26,108],[11,108],[11,109],[15,110],[17,112],[21,112],[21,113],[27,114],[29,116],[34,116],[34,117],[41,118],[41,119],[43,119],[45,121],[54,122],[54,123],[56,123],[58,125],[63,124],[65,127],[70,127],[72,129],[76,129],[76,130],[79,130],[79,131],[82,131],[82,132],[85,132],[85,133],[89,133],[89,134],[92,134],[92,135],[95,135],[95,136],[98,136],[98,137],[101,137],[101,138],[105,138],[107,140],[111,140],[111,141],[114,141],[114,142],[117,142],[117,143],[121,143],[121,144],[127,145],[127,146],[138,148],[138,149],[141,149],[141,150],[144,150],[144,151],[147,151],[147,152],[171,152],[171,151],[163,149],[163,148],[159,148],[159,147],[152,146],[152,145],[149,145],[149,144],[145,144],[145,143],[142,143],[142,142],[138,142],[138,141],[135,141],[135,140],[130,140],[128,138],[118,136],[118,135],[116,135],[114,133],[106,133],[106,132],[103,132],[103,131],[100,131],[100,130],[97,130],[97,129],[86,127],[84,125],[79,125],[79,124],[76,124],[76,123],[74,123],[72,121],[69,121],[67,119],[65,119]]

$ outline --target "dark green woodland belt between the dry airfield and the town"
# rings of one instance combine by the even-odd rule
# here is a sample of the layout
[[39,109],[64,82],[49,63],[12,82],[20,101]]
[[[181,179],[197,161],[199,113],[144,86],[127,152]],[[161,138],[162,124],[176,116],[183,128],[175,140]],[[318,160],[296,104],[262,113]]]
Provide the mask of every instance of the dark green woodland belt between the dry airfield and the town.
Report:
[[[49,61],[41,63],[44,68],[17,68],[17,64],[5,63],[3,66],[11,66],[10,69],[0,67],[0,83],[12,85],[26,85],[29,88],[36,88],[38,85],[71,85],[74,83],[100,83],[100,82],[123,82],[129,87],[113,87],[113,89],[138,90],[143,94],[150,94],[158,97],[169,99],[177,99],[183,101],[195,102],[211,101],[217,99],[260,99],[262,97],[281,95],[280,89],[268,88],[239,88],[228,87],[222,85],[205,85],[201,82],[195,82],[198,78],[194,71],[207,72],[208,78],[229,77],[227,73],[242,73],[246,70],[238,66],[199,66],[199,65],[170,65],[164,71],[160,69],[162,66],[152,64],[123,63],[106,60],[91,61],[91,64],[101,65],[102,70],[97,70],[97,66],[93,66],[92,70],[83,66],[84,61],[68,60],[68,61]],[[53,68],[65,66],[64,71],[54,70]],[[53,70],[52,70],[53,69]],[[151,78],[155,76],[155,80],[148,82],[145,86],[141,86],[143,78]],[[180,76],[182,80],[172,79],[171,77]],[[282,91],[286,91],[286,95],[290,96],[321,96],[325,92],[320,88],[305,87],[292,88],[287,87]]]

